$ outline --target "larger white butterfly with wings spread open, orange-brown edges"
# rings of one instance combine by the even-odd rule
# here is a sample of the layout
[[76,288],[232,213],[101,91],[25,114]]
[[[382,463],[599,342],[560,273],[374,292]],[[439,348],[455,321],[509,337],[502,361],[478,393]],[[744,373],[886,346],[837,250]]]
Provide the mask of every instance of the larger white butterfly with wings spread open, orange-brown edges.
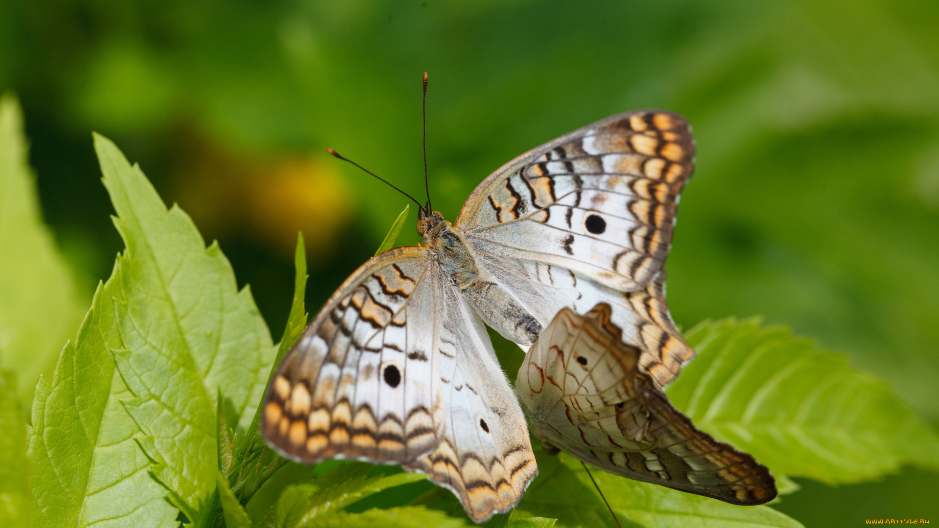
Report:
[[530,346],[564,307],[612,306],[662,386],[694,356],[660,290],[694,143],[685,118],[611,116],[522,154],[424,245],[352,273],[278,366],[261,430],[286,458],[401,464],[482,522],[537,474],[525,416],[485,325]]

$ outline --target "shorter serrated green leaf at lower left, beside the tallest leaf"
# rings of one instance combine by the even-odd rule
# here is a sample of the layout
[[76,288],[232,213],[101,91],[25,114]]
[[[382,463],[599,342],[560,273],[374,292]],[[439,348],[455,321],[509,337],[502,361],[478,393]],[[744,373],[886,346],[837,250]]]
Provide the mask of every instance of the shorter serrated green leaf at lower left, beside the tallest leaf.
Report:
[[147,474],[138,431],[120,400],[131,397],[109,349],[122,345],[115,322],[120,263],[95,292],[74,344],[33,398],[31,520],[34,526],[177,526],[165,490]]

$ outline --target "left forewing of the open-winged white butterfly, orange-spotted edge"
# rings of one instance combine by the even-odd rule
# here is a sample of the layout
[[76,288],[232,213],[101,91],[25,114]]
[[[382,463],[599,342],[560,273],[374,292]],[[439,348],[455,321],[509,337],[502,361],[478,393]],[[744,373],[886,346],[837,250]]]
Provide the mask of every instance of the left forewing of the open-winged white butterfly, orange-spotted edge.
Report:
[[427,251],[405,247],[369,260],[339,287],[268,387],[261,429],[274,449],[306,463],[402,463],[437,446],[435,279]]

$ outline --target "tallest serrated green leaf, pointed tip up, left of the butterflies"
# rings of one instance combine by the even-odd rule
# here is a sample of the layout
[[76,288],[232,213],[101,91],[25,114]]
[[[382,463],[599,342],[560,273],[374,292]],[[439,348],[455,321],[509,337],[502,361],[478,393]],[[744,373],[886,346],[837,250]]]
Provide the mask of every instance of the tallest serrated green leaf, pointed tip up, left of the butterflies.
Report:
[[[157,461],[154,477],[192,519],[215,488],[215,399],[221,391],[247,427],[274,349],[250,290],[238,290],[217,243],[208,248],[189,216],[167,210],[139,167],[95,135],[115,225],[127,244],[115,299],[124,407]],[[125,272],[126,271],[126,272]]]

